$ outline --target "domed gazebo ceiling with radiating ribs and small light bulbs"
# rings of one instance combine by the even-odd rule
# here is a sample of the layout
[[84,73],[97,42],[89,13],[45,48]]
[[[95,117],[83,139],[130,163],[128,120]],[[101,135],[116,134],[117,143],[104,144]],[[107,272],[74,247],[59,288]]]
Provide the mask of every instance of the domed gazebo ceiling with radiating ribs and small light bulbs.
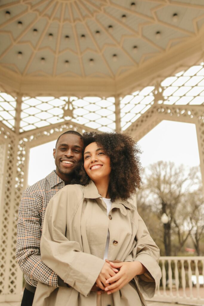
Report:
[[1,79],[24,94],[120,93],[202,44],[203,0],[1,0],[0,9]]

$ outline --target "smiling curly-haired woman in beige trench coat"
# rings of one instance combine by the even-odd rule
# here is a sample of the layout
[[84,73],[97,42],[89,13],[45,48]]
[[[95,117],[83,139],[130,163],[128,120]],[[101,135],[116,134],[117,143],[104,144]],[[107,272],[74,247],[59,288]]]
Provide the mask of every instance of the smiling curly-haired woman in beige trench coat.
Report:
[[69,287],[39,283],[33,305],[145,305],[142,293],[154,295],[161,271],[159,249],[127,202],[141,184],[140,151],[125,134],[85,133],[84,142],[83,186],[50,200],[40,244]]

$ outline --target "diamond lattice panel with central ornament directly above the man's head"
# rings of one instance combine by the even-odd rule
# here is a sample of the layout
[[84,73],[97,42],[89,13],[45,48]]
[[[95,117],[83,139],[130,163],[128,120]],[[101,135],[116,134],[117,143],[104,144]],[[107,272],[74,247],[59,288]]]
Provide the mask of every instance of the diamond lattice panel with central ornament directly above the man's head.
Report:
[[103,132],[115,129],[114,97],[24,97],[22,101],[20,132],[65,120]]

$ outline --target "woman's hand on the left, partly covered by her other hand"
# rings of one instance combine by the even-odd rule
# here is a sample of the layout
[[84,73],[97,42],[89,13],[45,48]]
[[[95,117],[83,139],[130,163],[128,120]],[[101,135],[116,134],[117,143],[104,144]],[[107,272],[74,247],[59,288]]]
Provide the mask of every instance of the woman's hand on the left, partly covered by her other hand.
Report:
[[101,290],[104,290],[108,285],[106,280],[115,276],[117,272],[117,268],[112,267],[111,263],[105,262],[96,280],[96,285],[98,285]]

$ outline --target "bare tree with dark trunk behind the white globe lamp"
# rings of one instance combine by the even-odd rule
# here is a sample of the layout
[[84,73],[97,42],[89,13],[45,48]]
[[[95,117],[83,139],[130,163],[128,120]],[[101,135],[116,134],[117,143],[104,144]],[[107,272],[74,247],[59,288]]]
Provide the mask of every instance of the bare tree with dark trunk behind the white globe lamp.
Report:
[[[172,234],[178,237],[178,252],[195,227],[188,218],[186,196],[189,193],[193,195],[193,191],[198,188],[198,167],[187,171],[183,165],[176,166],[173,162],[159,161],[148,166],[143,173],[144,185],[138,195],[138,207],[145,201],[159,219],[163,214],[168,216],[167,222],[163,224],[163,243],[165,255],[171,256]],[[200,237],[200,231],[198,236]]]

